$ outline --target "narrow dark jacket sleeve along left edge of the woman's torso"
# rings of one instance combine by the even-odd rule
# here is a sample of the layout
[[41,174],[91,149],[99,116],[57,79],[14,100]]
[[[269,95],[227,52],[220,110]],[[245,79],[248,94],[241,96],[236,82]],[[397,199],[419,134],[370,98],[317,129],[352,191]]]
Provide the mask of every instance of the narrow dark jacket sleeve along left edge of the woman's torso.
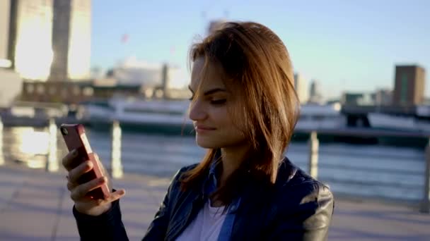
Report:
[[170,204],[170,199],[172,199],[172,190],[178,189],[180,182],[180,175],[183,173],[184,168],[180,169],[173,177],[173,180],[170,182],[167,193],[161,202],[158,211],[156,212],[153,221],[149,224],[148,230],[146,230],[146,234],[142,241],[145,240],[164,240],[164,237],[167,233],[168,223],[170,221],[170,209],[172,208]]

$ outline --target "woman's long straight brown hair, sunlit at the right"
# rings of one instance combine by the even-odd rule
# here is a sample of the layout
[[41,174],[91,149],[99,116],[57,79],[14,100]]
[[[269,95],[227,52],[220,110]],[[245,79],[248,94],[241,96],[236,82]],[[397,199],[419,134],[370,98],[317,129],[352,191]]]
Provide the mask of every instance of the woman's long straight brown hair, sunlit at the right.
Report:
[[[197,58],[217,63],[226,75],[226,85],[235,87],[240,98],[240,116],[250,150],[241,166],[214,193],[230,204],[245,175],[274,183],[282,155],[291,140],[299,114],[294,90],[294,72],[284,43],[268,27],[259,23],[225,23],[190,50]],[[203,70],[204,71],[204,70]],[[192,188],[207,175],[216,149],[209,149],[198,166],[182,176],[182,188]],[[249,175],[250,174],[250,175]]]

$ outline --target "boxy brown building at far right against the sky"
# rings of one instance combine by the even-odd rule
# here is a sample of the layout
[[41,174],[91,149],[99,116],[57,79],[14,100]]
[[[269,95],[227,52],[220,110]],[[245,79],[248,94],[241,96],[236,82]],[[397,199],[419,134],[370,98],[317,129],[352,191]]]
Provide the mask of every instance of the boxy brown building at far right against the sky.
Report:
[[419,66],[395,66],[393,104],[413,106],[424,103],[426,73]]

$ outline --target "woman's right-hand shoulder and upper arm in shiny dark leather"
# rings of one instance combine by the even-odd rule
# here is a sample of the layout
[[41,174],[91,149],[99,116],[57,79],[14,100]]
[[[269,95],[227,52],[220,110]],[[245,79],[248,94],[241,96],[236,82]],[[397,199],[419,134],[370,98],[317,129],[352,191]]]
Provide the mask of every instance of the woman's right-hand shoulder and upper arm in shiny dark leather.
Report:
[[326,240],[335,207],[330,188],[288,159],[281,163],[279,175],[269,209],[271,239]]

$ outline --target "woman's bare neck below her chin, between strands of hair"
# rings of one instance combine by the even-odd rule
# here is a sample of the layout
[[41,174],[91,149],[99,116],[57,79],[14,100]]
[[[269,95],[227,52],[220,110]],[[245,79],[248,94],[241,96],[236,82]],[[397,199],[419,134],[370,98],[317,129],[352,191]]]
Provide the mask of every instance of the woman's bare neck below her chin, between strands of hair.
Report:
[[248,149],[248,146],[221,148],[223,171],[221,173],[219,185],[224,185],[231,173],[239,168],[240,164],[245,159]]

